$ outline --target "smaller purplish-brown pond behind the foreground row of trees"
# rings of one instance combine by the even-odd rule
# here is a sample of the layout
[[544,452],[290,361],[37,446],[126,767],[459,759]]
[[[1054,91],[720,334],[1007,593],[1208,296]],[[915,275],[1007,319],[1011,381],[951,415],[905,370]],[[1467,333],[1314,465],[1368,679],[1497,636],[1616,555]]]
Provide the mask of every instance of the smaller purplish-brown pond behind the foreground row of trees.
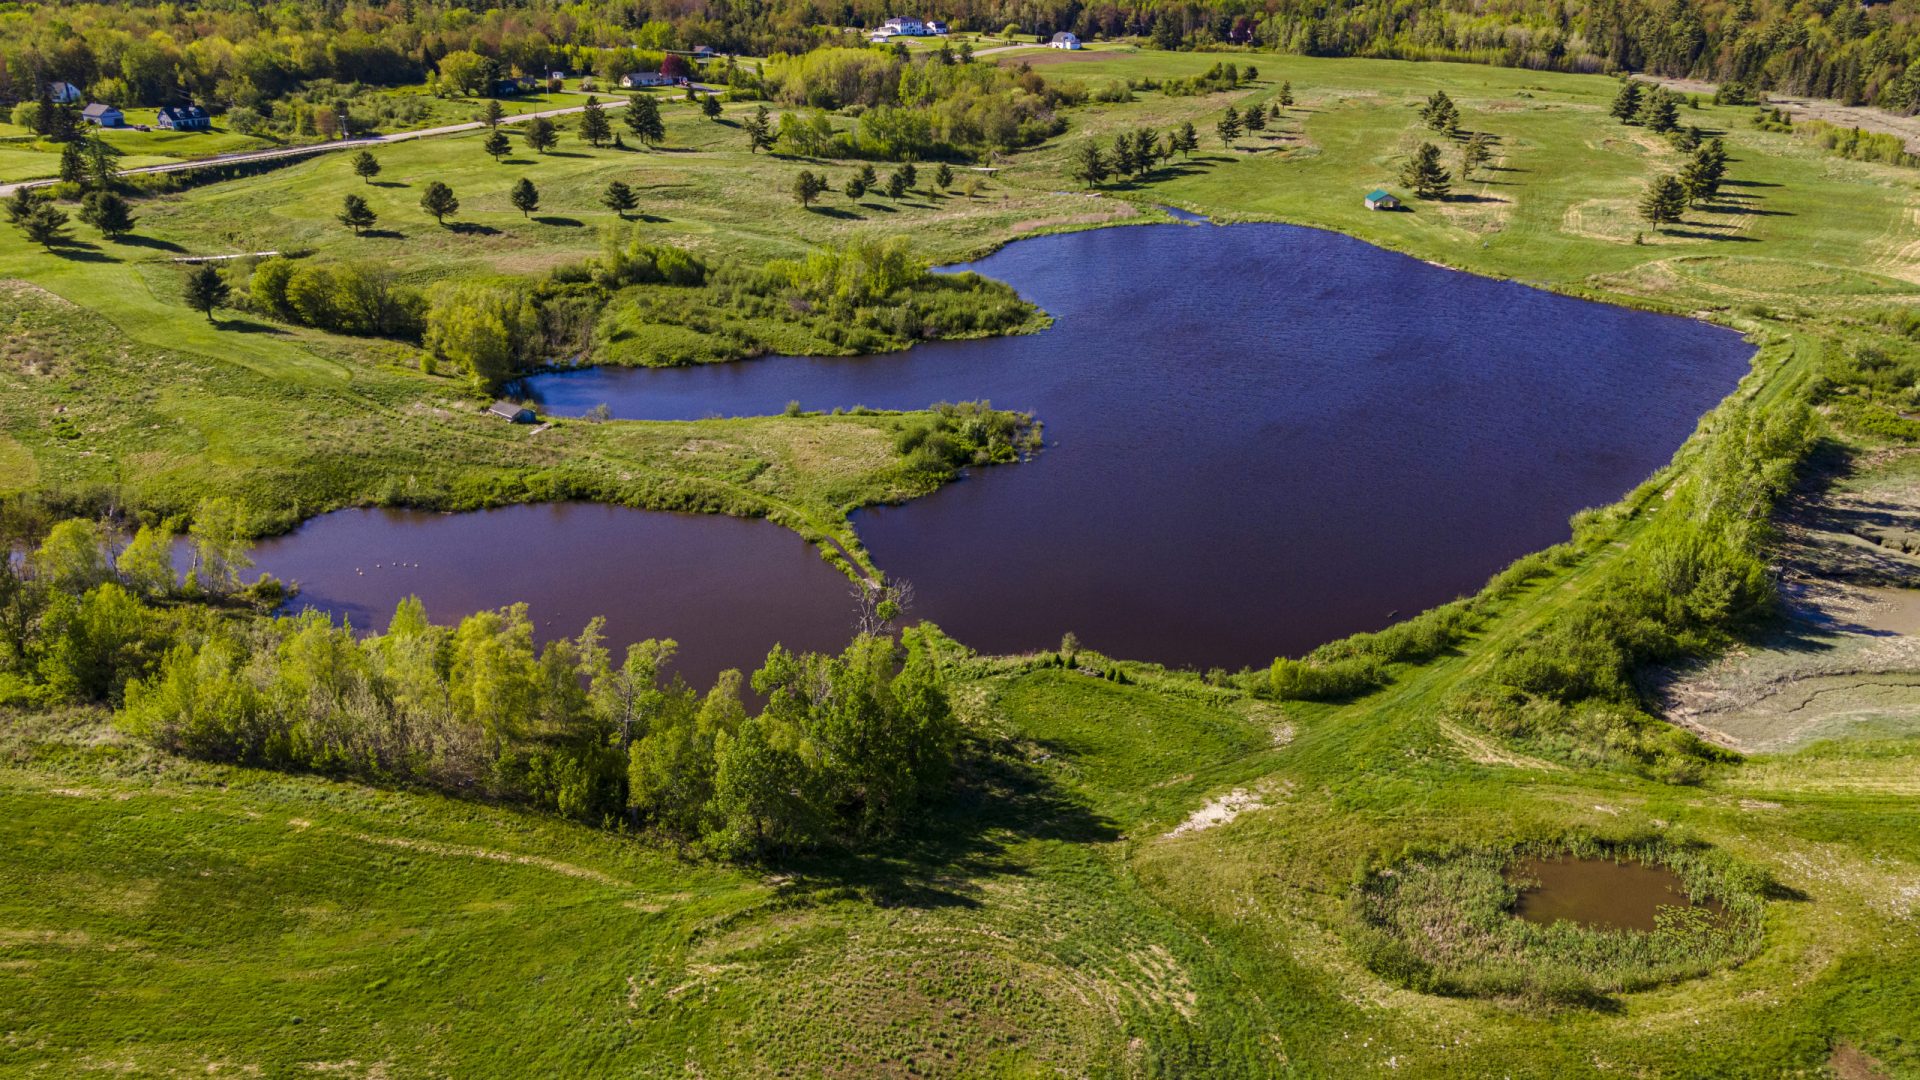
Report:
[[839,650],[852,634],[847,578],[768,521],[593,503],[478,513],[349,509],[259,544],[259,569],[298,580],[296,605],[384,630],[417,594],[436,623],[526,601],[541,640],[607,617],[614,657],[643,638],[680,642],[699,688],[753,671],[776,642]]

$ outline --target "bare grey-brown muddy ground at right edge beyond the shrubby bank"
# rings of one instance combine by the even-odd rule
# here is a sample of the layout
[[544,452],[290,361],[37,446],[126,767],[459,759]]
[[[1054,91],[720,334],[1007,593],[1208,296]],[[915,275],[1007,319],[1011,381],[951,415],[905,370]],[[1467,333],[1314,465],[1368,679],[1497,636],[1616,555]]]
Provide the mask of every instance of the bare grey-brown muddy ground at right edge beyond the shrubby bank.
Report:
[[1713,663],[1655,675],[1667,719],[1747,753],[1920,734],[1920,452],[1836,463],[1780,527],[1786,617]]

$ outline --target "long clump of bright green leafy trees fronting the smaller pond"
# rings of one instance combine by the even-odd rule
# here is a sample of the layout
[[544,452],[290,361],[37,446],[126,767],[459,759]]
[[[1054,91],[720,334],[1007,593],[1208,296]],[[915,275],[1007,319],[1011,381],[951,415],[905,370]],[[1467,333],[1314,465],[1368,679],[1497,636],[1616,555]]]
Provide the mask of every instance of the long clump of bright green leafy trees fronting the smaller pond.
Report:
[[526,605],[434,626],[409,598],[372,638],[311,611],[182,636],[127,684],[119,724],[173,753],[424,782],[756,857],[885,836],[939,792],[956,726],[929,632],[776,648],[749,715],[737,671],[707,694],[666,678],[670,640],[614,663],[599,621],[536,648]]

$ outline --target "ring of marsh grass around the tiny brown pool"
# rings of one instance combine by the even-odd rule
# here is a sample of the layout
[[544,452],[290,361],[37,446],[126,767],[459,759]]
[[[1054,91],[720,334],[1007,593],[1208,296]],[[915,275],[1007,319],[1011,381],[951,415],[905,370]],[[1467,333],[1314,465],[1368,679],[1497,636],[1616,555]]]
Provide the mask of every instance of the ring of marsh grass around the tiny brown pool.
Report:
[[[1659,909],[1651,932],[1530,922],[1515,915],[1524,880],[1513,867],[1526,857],[1667,867],[1693,907]],[[1352,944],[1377,974],[1423,994],[1609,1007],[1613,994],[1697,978],[1759,951],[1766,888],[1724,853],[1657,838],[1417,855],[1361,872],[1350,897]]]

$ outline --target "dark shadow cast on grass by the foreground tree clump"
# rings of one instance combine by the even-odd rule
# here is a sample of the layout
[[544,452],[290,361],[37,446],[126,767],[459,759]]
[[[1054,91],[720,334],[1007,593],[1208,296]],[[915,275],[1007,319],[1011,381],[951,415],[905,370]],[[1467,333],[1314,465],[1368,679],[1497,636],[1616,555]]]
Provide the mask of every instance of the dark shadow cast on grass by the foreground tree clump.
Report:
[[[1054,755],[1064,748],[1041,744]],[[852,897],[876,907],[979,907],[977,882],[1025,876],[1014,849],[1029,840],[1110,844],[1119,826],[1062,790],[1008,744],[973,742],[956,765],[952,794],[908,836],[860,853],[785,859],[781,886],[795,899]]]

